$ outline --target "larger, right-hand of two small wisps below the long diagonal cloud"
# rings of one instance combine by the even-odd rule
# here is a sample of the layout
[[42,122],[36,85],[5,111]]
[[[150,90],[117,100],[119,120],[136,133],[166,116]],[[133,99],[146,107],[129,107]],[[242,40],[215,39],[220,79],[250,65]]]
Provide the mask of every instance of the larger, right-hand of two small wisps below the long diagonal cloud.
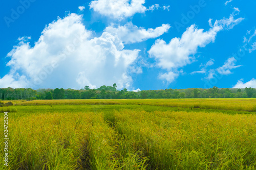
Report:
[[231,69],[241,67],[242,65],[236,65],[237,60],[234,57],[228,58],[227,61],[225,61],[224,65],[217,68],[216,70],[221,75],[229,75],[232,74]]

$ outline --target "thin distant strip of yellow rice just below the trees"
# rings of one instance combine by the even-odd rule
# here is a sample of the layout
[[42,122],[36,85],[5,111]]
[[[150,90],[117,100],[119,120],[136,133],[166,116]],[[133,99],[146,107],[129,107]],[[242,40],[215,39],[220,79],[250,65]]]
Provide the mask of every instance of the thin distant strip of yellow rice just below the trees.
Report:
[[[8,101],[5,101],[7,103]],[[252,111],[256,99],[131,99],[131,100],[34,100],[12,101],[14,105],[151,105],[195,109]]]

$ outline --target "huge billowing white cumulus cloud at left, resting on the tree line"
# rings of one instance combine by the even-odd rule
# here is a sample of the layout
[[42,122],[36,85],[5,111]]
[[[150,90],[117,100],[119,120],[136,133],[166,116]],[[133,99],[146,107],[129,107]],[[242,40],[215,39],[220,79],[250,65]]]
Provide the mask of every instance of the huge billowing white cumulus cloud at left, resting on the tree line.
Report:
[[23,41],[15,46],[8,54],[11,71],[0,86],[80,89],[116,83],[118,89],[131,88],[129,70],[139,50],[123,50],[119,38],[106,32],[93,37],[81,20],[77,14],[58,18],[33,47]]

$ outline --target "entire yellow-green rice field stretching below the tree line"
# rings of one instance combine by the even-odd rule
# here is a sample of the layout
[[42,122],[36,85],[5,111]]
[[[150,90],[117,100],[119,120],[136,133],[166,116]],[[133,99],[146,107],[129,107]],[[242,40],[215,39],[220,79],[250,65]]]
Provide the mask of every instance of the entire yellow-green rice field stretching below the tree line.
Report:
[[0,169],[256,169],[255,99],[12,102]]

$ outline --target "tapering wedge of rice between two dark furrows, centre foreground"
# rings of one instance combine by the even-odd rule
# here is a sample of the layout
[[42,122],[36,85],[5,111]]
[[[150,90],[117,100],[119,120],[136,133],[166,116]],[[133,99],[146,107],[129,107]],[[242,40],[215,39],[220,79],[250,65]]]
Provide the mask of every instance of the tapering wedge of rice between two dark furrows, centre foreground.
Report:
[[92,169],[145,169],[147,158],[132,147],[105,123],[101,114],[94,114],[90,129],[89,155]]

